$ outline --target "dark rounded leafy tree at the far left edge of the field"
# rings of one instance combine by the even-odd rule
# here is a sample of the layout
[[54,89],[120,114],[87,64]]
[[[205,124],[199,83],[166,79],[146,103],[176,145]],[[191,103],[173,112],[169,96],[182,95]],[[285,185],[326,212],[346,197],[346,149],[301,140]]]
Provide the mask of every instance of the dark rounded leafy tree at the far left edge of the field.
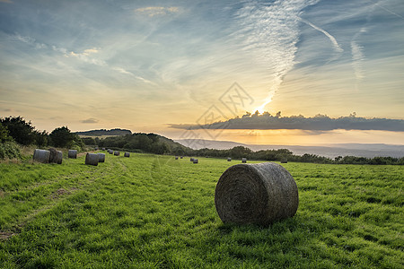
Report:
[[13,137],[16,143],[23,145],[29,145],[34,143],[35,127],[31,125],[31,121],[26,122],[23,117],[4,117],[0,119],[0,122],[5,126],[9,132],[9,135]]

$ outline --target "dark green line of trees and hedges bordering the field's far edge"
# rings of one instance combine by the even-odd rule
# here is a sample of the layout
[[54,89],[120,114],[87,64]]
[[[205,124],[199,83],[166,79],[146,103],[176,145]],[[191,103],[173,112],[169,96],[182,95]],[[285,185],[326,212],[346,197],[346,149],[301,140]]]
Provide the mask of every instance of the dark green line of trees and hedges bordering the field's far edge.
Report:
[[55,146],[61,148],[87,150],[87,147],[110,148],[129,152],[145,152],[154,154],[171,154],[177,156],[200,156],[212,158],[233,158],[257,161],[297,161],[314,163],[338,163],[338,164],[395,164],[404,165],[403,158],[392,157],[356,157],[338,156],[329,159],[315,154],[294,155],[287,149],[251,151],[247,147],[236,146],[229,150],[200,149],[193,150],[180,143],[159,134],[134,133],[120,136],[110,136],[100,139],[99,137],[79,137],[72,133],[67,126],[55,128],[50,134],[46,131],[38,131],[32,126],[31,121],[23,117],[0,118],[0,159],[18,158],[19,147],[17,144],[39,147]]

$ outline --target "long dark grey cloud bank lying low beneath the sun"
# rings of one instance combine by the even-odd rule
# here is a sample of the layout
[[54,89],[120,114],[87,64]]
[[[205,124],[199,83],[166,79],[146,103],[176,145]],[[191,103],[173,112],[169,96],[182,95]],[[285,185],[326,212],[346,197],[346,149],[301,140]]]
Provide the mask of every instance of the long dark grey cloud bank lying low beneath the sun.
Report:
[[404,120],[356,117],[355,113],[348,117],[331,118],[320,114],[315,117],[304,117],[302,115],[281,117],[280,113],[277,116],[272,116],[266,112],[263,115],[244,115],[210,125],[171,125],[171,127],[180,129],[297,129],[309,131],[343,129],[404,132]]

